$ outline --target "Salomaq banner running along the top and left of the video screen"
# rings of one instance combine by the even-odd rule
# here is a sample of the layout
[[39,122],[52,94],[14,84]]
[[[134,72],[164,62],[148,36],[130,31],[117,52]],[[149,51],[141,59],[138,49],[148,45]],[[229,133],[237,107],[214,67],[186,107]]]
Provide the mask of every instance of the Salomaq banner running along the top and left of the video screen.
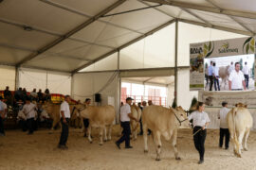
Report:
[[254,53],[254,37],[192,43],[190,45],[190,90],[204,89],[204,59]]

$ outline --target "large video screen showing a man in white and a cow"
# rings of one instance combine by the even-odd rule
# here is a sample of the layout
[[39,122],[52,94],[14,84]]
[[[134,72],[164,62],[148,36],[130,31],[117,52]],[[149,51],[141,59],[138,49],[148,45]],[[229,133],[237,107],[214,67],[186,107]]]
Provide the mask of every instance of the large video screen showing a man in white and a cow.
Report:
[[254,55],[204,59],[205,91],[253,91]]

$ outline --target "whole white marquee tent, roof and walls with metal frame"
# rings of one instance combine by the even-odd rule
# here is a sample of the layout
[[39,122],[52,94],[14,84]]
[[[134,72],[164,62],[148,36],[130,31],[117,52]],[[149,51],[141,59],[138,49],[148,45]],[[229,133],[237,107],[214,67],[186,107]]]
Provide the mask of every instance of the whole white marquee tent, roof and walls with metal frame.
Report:
[[[253,36],[253,0],[0,0],[0,87],[119,107],[120,77],[175,76],[188,108],[189,44]],[[106,99],[107,100],[107,99]],[[106,101],[105,100],[105,101]]]

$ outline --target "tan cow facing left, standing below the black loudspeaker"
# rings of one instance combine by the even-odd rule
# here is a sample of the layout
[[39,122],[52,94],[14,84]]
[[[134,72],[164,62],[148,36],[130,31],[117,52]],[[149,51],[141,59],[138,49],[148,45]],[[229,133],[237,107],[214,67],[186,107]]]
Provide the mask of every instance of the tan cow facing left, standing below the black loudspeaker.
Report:
[[[104,141],[111,140],[111,131],[116,115],[116,111],[113,106],[87,106],[85,110],[80,111],[80,114],[82,118],[89,119],[88,140],[90,143],[92,143],[92,127],[100,127],[100,144],[103,144],[103,133]],[[108,127],[108,135],[106,127]]]

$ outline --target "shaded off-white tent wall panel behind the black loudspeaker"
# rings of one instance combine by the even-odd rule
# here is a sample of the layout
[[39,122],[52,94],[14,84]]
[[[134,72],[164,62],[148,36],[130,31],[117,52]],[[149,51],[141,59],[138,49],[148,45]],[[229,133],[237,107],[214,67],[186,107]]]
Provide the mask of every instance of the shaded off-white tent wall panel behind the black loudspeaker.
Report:
[[94,94],[101,93],[101,105],[113,105],[119,112],[119,74],[118,72],[103,73],[80,73],[73,77],[72,97],[84,101],[85,98],[92,99]]

